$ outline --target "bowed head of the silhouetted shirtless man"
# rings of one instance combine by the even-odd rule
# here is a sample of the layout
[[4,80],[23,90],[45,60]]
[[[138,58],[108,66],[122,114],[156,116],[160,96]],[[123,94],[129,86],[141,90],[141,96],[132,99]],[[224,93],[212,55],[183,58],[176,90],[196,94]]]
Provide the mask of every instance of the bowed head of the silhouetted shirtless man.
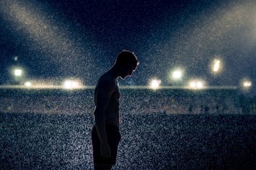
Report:
[[131,76],[134,70],[136,70],[139,62],[134,53],[129,50],[123,50],[116,57],[115,66],[120,71],[120,77],[125,79],[126,76]]

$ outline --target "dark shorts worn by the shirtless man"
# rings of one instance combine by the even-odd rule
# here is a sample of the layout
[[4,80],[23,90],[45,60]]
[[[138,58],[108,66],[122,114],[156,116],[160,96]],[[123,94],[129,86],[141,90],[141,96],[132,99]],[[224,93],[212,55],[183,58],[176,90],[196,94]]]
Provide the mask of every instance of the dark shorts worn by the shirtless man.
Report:
[[91,131],[91,140],[93,143],[93,163],[94,164],[116,164],[116,155],[118,150],[118,144],[121,139],[118,126],[106,124],[107,141],[111,149],[111,157],[104,158],[100,155],[100,138],[96,130],[96,126],[93,126]]

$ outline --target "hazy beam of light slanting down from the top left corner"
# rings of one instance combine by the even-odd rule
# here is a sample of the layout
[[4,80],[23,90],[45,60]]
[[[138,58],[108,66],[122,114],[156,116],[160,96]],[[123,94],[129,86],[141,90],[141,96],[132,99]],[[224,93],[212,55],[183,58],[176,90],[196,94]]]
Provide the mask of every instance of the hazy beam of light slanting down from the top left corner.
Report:
[[[0,17],[11,21],[10,28],[15,28],[20,35],[27,35],[28,38],[37,48],[45,50],[56,57],[51,57],[51,62],[55,64],[82,65],[82,57],[88,57],[84,46],[80,41],[73,39],[68,28],[63,28],[61,22],[55,21],[54,18],[48,17],[51,12],[45,12],[44,8],[35,5],[31,1],[4,1]],[[1,8],[0,8],[1,10]],[[3,15],[3,16],[2,16]],[[18,57],[14,58],[17,61]],[[86,58],[87,59],[87,58]],[[58,67],[62,69],[64,67]]]

